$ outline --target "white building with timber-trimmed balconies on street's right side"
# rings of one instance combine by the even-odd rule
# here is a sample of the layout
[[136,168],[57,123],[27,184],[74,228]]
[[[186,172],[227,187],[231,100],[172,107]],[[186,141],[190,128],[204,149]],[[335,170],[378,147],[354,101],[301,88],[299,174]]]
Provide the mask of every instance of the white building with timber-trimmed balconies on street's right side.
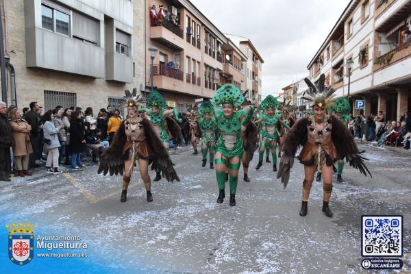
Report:
[[382,110],[399,120],[411,108],[411,41],[403,35],[410,14],[410,0],[351,0],[308,64],[311,79],[324,73],[336,95],[349,96],[354,115],[362,99],[365,115]]

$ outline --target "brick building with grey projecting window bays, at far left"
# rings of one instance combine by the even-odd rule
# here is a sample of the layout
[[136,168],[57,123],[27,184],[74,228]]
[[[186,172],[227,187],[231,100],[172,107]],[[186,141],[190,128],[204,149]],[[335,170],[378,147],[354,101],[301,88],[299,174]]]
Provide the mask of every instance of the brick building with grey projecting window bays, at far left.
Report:
[[118,107],[144,90],[142,0],[0,0],[8,103]]

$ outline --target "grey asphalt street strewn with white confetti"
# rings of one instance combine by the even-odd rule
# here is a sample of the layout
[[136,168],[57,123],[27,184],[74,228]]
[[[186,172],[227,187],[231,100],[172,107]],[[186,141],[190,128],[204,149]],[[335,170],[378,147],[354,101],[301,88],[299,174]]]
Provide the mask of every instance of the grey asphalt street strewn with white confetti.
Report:
[[121,177],[97,175],[90,164],[61,175],[42,172],[1,182],[0,216],[3,223],[36,222],[37,233],[82,236],[94,254],[88,260],[113,273],[373,273],[360,267],[361,216],[401,214],[403,273],[410,273],[410,155],[371,145],[360,149],[366,150],[373,178],[347,165],[343,183],[335,175],[332,219],[321,212],[319,182],[312,187],[308,215],[299,216],[303,166],[297,161],[283,190],[272,164],[254,169],[256,153],[251,182],[242,181],[241,168],[237,206],[230,207],[227,198],[216,203],[214,170],[202,168],[201,153],[192,151],[172,156],[181,182],[153,182],[152,203],[138,171],[121,203]]

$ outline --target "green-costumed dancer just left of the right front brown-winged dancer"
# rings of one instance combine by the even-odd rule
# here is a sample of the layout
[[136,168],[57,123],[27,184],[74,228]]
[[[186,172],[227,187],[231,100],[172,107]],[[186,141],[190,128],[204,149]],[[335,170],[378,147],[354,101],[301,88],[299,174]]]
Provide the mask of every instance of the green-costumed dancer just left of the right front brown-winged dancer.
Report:
[[275,110],[279,108],[280,104],[273,97],[273,95],[267,96],[261,103],[259,108],[266,110],[266,114],[262,114],[258,117],[256,123],[262,124],[262,130],[260,132],[260,153],[258,155],[258,164],[256,169],[260,169],[262,166],[262,159],[264,157],[264,150],[269,147],[271,155],[273,156],[273,171],[277,171],[277,142],[279,140],[279,132],[281,127],[287,127],[288,125],[282,121],[282,114],[275,114]]

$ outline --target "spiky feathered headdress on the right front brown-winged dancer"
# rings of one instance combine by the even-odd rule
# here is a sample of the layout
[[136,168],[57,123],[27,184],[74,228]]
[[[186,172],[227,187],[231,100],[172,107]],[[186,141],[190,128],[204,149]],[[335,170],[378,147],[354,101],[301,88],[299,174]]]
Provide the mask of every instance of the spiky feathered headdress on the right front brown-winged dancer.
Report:
[[312,103],[312,106],[318,105],[320,108],[329,108],[332,105],[332,97],[335,95],[333,94],[336,90],[334,88],[329,88],[325,86],[325,75],[321,74],[319,79],[318,88],[312,84],[310,79],[305,78],[304,81],[308,86],[308,90],[304,92],[301,99]]

